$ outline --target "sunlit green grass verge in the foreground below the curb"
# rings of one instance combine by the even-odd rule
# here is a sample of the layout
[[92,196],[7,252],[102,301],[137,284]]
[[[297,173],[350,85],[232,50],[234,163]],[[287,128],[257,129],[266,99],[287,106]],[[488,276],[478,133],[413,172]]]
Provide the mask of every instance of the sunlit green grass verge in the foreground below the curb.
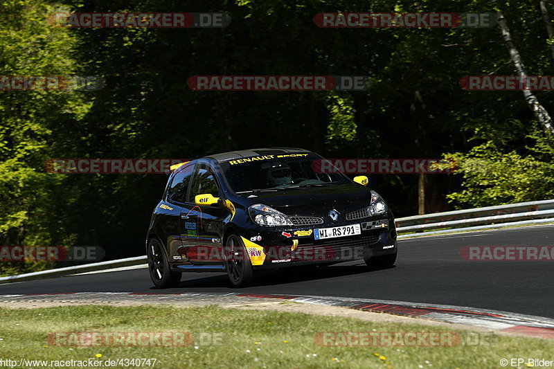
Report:
[[[0,359],[94,360],[156,358],[154,368],[501,368],[500,359],[554,359],[554,341],[488,336],[454,347],[322,347],[316,332],[447,332],[445,327],[376,323],[268,310],[179,308],[169,305],[80,305],[0,309]],[[368,313],[369,314],[369,313]],[[200,332],[222,345],[184,347],[60,347],[49,332]],[[468,332],[459,332],[466,337]],[[471,333],[469,333],[471,334]],[[102,357],[97,358],[96,355]],[[375,356],[378,354],[379,356]],[[380,357],[380,358],[379,358]],[[148,368],[148,367],[146,367]]]

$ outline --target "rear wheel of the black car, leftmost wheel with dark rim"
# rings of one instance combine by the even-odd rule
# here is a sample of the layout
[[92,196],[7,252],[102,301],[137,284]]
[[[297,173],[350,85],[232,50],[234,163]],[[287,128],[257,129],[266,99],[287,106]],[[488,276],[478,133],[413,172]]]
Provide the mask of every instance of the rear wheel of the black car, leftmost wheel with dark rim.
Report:
[[148,270],[150,278],[156,288],[178,287],[181,282],[181,273],[171,271],[166,251],[163,250],[160,242],[152,238],[146,248],[148,257]]

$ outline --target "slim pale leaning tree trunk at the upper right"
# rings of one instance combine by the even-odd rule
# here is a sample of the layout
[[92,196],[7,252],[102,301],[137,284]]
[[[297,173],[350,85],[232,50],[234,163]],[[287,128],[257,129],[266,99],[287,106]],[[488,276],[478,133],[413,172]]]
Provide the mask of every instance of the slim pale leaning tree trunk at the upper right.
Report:
[[[506,18],[504,18],[502,11],[499,9],[497,0],[491,1],[494,8],[497,8],[498,26],[500,28],[502,38],[504,39],[504,42],[506,42],[506,46],[508,47],[510,59],[512,60],[512,63],[514,63],[519,77],[526,78],[527,71],[525,70],[523,61],[521,60],[521,55],[519,55],[519,51],[517,51],[517,48],[515,47],[515,44],[512,40],[512,36],[510,35],[510,28],[508,28]],[[533,111],[533,114],[535,114],[535,118],[537,118],[543,129],[548,133],[554,134],[554,127],[552,126],[552,118],[550,114],[548,114],[548,111],[544,109],[537,97],[529,89],[527,89],[527,85],[525,86],[526,87],[524,89],[524,97],[527,105],[529,106],[531,111]]]

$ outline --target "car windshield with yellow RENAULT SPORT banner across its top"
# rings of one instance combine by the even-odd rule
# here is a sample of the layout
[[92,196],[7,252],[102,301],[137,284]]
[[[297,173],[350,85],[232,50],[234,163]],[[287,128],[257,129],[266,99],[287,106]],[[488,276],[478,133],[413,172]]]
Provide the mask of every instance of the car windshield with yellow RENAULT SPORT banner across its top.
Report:
[[316,154],[250,156],[221,163],[223,173],[236,193],[352,183],[341,173],[322,173]]

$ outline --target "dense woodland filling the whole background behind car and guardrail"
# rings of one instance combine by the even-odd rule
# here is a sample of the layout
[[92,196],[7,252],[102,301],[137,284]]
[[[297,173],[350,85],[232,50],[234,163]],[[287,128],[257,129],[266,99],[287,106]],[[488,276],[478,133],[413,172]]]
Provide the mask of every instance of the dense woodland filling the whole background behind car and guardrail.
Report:
[[[497,1],[531,75],[554,75],[538,0]],[[427,176],[427,210],[551,198],[553,141],[521,92],[463,91],[512,75],[499,29],[326,29],[318,12],[490,12],[492,1],[2,0],[1,75],[97,75],[98,91],[0,91],[0,244],[143,253],[163,174],[48,174],[49,158],[194,158],[304,147],[331,158],[454,157]],[[57,28],[54,11],[229,12],[227,28]],[[554,9],[551,9],[554,13]],[[370,75],[368,91],[193,91],[191,75]],[[552,111],[551,93],[535,94]],[[375,174],[395,215],[413,174]],[[19,268],[10,265],[4,268]],[[40,269],[41,264],[26,265]],[[9,272],[9,271],[8,271]]]

